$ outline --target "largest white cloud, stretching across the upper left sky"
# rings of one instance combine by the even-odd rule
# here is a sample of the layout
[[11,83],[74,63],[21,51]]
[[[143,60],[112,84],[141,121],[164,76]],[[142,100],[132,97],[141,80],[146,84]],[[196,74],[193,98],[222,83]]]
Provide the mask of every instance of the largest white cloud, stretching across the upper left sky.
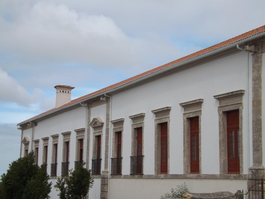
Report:
[[169,60],[182,55],[162,37],[130,37],[107,16],[76,12],[62,4],[37,2],[0,25],[0,50],[31,60],[139,68],[151,55]]

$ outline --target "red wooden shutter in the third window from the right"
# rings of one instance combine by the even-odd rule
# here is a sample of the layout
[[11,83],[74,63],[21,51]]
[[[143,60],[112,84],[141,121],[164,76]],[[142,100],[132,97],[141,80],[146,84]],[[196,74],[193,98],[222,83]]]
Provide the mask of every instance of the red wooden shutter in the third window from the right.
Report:
[[161,174],[167,174],[167,123],[160,124],[161,128]]

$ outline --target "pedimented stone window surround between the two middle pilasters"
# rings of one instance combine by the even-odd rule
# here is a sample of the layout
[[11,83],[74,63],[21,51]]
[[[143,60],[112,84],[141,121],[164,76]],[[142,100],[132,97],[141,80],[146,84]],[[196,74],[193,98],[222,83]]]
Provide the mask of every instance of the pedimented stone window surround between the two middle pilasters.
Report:
[[92,159],[97,159],[97,146],[98,146],[98,139],[97,136],[101,136],[101,148],[100,148],[100,159],[102,157],[102,139],[103,139],[103,125],[104,122],[101,118],[94,118],[92,119],[90,126],[94,129],[93,131],[93,148],[92,148]]

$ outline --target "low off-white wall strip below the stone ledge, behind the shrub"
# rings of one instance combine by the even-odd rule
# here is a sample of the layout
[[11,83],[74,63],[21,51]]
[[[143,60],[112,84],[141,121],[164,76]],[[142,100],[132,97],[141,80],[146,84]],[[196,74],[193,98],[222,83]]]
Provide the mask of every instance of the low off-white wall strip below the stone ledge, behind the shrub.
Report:
[[135,199],[160,198],[171,188],[186,182],[190,192],[210,193],[217,191],[230,191],[247,188],[247,180],[224,180],[224,179],[110,179],[110,199]]

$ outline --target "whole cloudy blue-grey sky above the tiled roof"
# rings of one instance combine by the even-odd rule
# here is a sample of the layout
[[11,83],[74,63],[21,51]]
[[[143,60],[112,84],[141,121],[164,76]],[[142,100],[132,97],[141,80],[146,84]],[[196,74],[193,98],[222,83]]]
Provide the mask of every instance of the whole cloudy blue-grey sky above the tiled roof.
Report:
[[[265,1],[0,0],[0,174],[16,123],[265,24]],[[3,153],[5,152],[5,153]]]

